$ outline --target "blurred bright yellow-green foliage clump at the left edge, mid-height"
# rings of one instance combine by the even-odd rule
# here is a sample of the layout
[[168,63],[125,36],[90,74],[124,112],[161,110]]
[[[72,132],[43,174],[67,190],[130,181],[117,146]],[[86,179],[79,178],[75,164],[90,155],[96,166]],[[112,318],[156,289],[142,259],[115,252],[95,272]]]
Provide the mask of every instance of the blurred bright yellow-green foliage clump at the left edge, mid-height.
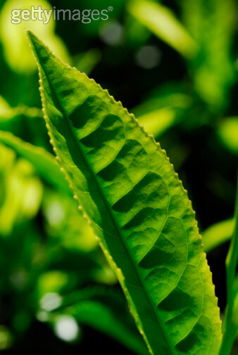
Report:
[[42,199],[42,183],[26,160],[15,160],[15,153],[0,146],[1,210],[0,234],[9,237],[14,226],[37,214]]

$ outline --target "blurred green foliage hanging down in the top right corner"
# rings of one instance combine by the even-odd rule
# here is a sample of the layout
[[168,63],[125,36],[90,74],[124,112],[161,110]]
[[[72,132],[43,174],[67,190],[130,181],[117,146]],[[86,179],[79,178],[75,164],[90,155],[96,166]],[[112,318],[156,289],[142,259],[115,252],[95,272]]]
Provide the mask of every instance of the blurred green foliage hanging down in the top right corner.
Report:
[[187,30],[199,46],[192,61],[194,89],[219,112],[227,105],[236,74],[232,41],[236,27],[234,0],[182,0],[182,16]]

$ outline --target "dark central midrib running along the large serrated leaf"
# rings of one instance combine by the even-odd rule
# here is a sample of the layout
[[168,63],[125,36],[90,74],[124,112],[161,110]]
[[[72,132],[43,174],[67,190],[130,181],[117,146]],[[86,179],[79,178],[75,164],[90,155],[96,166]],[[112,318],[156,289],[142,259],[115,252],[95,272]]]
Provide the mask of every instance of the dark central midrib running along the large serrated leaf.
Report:
[[[43,69],[43,70],[44,70],[44,69]],[[46,79],[47,79],[47,81],[48,81],[48,83],[49,83],[49,86],[50,86],[50,88],[51,88],[51,91],[54,92],[54,97],[55,97],[55,99],[56,99],[56,102],[58,103],[58,107],[61,108],[61,112],[63,113],[63,116],[64,116],[66,122],[68,123],[68,127],[70,128],[70,132],[71,132],[71,134],[72,134],[72,136],[73,136],[73,139],[75,140],[75,142],[76,142],[76,144],[77,144],[78,149],[80,150],[80,154],[81,154],[81,156],[82,156],[82,158],[83,158],[83,160],[84,160],[84,163],[85,163],[85,165],[87,166],[87,168],[89,169],[89,172],[90,172],[92,178],[94,179],[97,188],[99,189],[99,191],[100,191],[100,193],[101,193],[101,196],[102,196],[102,198],[103,198],[103,200],[104,200],[104,203],[105,203],[105,205],[106,205],[106,207],[107,207],[107,209],[108,209],[108,212],[109,212],[109,214],[110,214],[111,220],[113,221],[113,224],[114,224],[114,226],[115,226],[115,230],[117,231],[118,235],[120,235],[120,238],[123,240],[123,245],[124,245],[124,247],[125,247],[125,250],[126,250],[127,254],[129,255],[130,259],[132,260],[132,264],[134,265],[134,269],[136,270],[136,272],[137,272],[137,274],[138,274],[138,277],[139,277],[139,280],[140,280],[140,283],[141,283],[142,286],[143,286],[143,287],[142,287],[142,290],[144,289],[144,292],[145,292],[145,294],[146,294],[146,297],[148,298],[149,303],[151,304],[151,307],[152,307],[152,309],[153,309],[153,311],[154,311],[154,314],[156,315],[156,319],[158,320],[158,324],[161,326],[161,329],[163,330],[163,335],[164,335],[165,339],[167,340],[168,347],[170,348],[170,351],[171,351],[170,354],[171,354],[171,355],[176,355],[176,352],[174,351],[173,344],[171,344],[170,341],[169,341],[168,333],[166,332],[166,330],[165,330],[165,328],[164,328],[163,322],[161,321],[160,317],[158,316],[158,312],[156,311],[156,306],[154,306],[153,299],[151,299],[151,296],[149,295],[149,291],[147,290],[146,285],[144,285],[143,278],[142,278],[142,276],[141,276],[141,274],[140,274],[140,272],[139,272],[139,269],[138,269],[138,267],[137,267],[137,264],[136,264],[136,262],[134,261],[134,258],[132,257],[129,248],[127,247],[127,244],[125,243],[124,235],[123,235],[123,233],[121,233],[121,231],[120,231],[120,226],[118,225],[118,223],[117,223],[117,221],[116,221],[116,218],[115,218],[115,216],[114,216],[114,214],[113,214],[113,211],[112,211],[112,209],[111,209],[111,206],[109,205],[108,200],[106,199],[106,196],[104,195],[104,191],[102,190],[102,188],[101,188],[101,186],[100,186],[100,183],[99,183],[99,181],[98,181],[98,179],[97,179],[97,177],[96,177],[96,174],[94,174],[94,171],[93,171],[92,167],[91,167],[90,164],[88,163],[87,158],[85,157],[84,152],[83,152],[82,148],[80,147],[80,141],[77,139],[77,136],[75,136],[75,133],[74,133],[74,131],[73,131],[72,124],[71,124],[71,122],[70,122],[70,120],[69,120],[69,117],[68,117],[68,115],[66,114],[64,108],[62,107],[60,100],[58,99],[58,97],[57,97],[57,95],[56,95],[56,91],[54,90],[54,86],[52,86],[52,84],[51,84],[51,82],[50,82],[50,80],[49,80],[49,77],[48,77],[48,75],[46,74],[45,71],[44,71],[44,74],[45,74]],[[103,90],[103,89],[102,89],[102,90]],[[43,95],[44,95],[44,93],[43,93]],[[72,113],[73,113],[73,112],[71,112],[71,114],[72,114]],[[67,172],[65,172],[65,173],[67,174]],[[68,174],[67,174],[67,175],[68,175]],[[126,282],[126,281],[125,281],[125,282]],[[133,302],[133,300],[132,300],[132,302]],[[133,304],[134,304],[134,302],[133,302]],[[138,314],[138,312],[137,312],[137,314]],[[138,314],[138,315],[139,315],[139,314]],[[140,316],[139,316],[139,318],[140,318]],[[144,333],[144,335],[146,336],[145,333]],[[146,337],[146,338],[147,338],[147,337]],[[154,350],[151,349],[151,351],[152,351],[153,354],[154,354]]]

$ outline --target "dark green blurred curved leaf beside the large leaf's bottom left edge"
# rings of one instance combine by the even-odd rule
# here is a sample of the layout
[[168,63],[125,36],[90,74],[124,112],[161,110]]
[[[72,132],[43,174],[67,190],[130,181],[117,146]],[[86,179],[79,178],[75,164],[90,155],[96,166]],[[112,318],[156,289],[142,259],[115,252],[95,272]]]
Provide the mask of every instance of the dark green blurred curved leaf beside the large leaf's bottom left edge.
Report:
[[132,318],[125,309],[125,302],[118,292],[112,288],[84,288],[69,294],[61,300],[61,304],[46,313],[47,321],[55,324],[62,316],[74,316],[82,325],[110,335],[122,342],[136,354],[148,354],[146,345],[137,336]]

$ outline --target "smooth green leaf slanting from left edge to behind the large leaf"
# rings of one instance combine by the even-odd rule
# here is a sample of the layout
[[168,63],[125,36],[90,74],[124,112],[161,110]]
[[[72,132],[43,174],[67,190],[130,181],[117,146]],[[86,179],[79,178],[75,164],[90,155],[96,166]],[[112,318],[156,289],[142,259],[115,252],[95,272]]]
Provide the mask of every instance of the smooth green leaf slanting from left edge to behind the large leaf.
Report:
[[70,194],[68,183],[60,171],[54,155],[51,155],[44,148],[22,141],[10,132],[0,131],[0,142],[13,148],[16,153],[31,162],[38,174],[57,190]]

